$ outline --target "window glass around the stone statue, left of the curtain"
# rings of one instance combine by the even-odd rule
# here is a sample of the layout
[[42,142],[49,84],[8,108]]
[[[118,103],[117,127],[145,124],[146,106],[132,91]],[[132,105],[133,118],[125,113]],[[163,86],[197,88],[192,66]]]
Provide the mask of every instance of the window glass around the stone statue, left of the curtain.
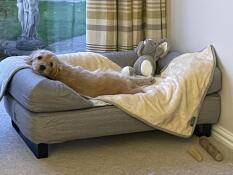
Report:
[[[23,1],[38,0],[0,0],[0,57],[29,53],[16,48],[17,41],[22,39],[17,2],[20,6]],[[85,51],[86,0],[39,0],[37,3],[40,19],[36,30],[46,49],[56,53]]]

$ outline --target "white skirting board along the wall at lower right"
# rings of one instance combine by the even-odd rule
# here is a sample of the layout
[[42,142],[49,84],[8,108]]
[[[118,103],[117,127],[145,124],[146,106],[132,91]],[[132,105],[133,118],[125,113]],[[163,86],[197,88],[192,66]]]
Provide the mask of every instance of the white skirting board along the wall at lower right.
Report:
[[212,129],[212,136],[233,150],[233,133],[221,126],[216,125]]

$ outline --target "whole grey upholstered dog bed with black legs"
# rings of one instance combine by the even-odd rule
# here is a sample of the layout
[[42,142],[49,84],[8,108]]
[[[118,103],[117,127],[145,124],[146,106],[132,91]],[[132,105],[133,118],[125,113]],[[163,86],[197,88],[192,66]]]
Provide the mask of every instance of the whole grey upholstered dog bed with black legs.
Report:
[[[134,51],[104,55],[121,67],[132,66],[137,59]],[[178,55],[179,52],[170,52],[161,59],[158,73]],[[216,67],[201,107],[199,135],[206,135],[205,128],[209,135],[211,124],[218,121],[220,90],[221,71]],[[48,156],[48,144],[52,143],[153,130],[114,106],[95,107],[63,83],[37,75],[28,68],[14,75],[4,100],[13,126],[38,158]]]

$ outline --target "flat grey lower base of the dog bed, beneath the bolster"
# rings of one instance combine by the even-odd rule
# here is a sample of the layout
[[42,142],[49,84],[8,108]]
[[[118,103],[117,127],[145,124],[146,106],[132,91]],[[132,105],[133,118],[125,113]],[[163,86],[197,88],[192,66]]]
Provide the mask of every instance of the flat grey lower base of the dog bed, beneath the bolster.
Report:
[[[34,113],[25,109],[9,95],[4,97],[4,102],[12,120],[34,143],[60,143],[81,138],[154,130],[114,106]],[[219,95],[207,96],[201,108],[198,124],[216,123],[219,115]]]

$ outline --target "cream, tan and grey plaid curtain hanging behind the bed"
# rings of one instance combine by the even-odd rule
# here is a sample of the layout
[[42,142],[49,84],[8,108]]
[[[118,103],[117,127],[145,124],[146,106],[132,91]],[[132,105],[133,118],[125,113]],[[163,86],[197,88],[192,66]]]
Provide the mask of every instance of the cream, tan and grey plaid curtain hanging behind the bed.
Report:
[[132,50],[167,36],[166,0],[87,0],[87,50]]

